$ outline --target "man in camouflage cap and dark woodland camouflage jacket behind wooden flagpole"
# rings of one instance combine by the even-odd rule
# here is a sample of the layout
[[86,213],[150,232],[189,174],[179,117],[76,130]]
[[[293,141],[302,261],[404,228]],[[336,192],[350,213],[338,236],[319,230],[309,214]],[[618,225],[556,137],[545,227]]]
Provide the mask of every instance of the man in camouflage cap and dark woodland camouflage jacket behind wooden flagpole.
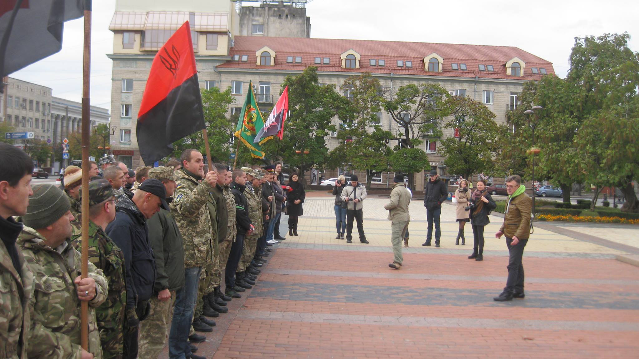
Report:
[[[80,193],[82,198],[82,193]],[[82,216],[82,215],[81,215]],[[82,245],[82,218],[73,222],[73,246]],[[124,320],[127,306],[124,253],[104,232],[116,218],[115,195],[109,181],[89,182],[89,262],[102,269],[109,283],[107,299],[95,308],[104,359],[121,359],[124,352]]]

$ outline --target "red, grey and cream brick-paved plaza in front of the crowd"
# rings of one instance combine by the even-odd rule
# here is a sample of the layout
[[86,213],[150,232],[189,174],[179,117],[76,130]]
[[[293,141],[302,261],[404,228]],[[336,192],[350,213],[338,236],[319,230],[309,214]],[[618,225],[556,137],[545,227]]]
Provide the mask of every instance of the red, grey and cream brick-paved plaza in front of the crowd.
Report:
[[[411,202],[410,248],[390,269],[388,198],[364,201],[370,244],[335,238],[333,197],[312,192],[299,237],[276,244],[258,283],[229,303],[199,344],[208,358],[637,358],[639,227],[536,223],[526,247],[526,298],[493,301],[507,250],[490,216],[484,261],[456,246],[454,205],[442,248],[421,246],[426,210]],[[288,218],[282,219],[282,233]],[[357,228],[354,228],[357,232]],[[163,355],[166,357],[166,350]]]

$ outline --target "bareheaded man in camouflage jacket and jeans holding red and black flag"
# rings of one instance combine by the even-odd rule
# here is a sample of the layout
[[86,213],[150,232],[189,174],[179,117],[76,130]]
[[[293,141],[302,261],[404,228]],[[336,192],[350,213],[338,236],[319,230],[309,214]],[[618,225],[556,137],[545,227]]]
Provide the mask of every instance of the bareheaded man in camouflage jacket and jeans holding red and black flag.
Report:
[[[178,187],[171,202],[171,213],[178,223],[184,244],[185,285],[176,295],[173,322],[169,334],[169,357],[192,356],[187,344],[190,324],[197,301],[197,289],[202,267],[211,260],[211,218],[206,201],[217,182],[217,173],[204,176],[202,154],[185,150],[180,157],[183,168],[174,172]],[[199,182],[201,181],[201,182]]]

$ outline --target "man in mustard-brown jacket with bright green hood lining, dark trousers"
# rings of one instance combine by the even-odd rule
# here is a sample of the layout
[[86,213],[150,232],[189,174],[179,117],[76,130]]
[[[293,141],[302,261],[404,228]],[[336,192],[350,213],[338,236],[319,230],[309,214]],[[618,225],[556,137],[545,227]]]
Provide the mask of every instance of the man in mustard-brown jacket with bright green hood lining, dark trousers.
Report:
[[521,184],[521,177],[512,175],[506,179],[508,203],[504,214],[504,223],[495,237],[506,236],[506,245],[510,253],[508,260],[508,279],[504,291],[493,298],[495,301],[509,301],[512,298],[525,297],[523,292],[523,248],[530,237],[530,209],[532,200],[526,194],[526,186]]

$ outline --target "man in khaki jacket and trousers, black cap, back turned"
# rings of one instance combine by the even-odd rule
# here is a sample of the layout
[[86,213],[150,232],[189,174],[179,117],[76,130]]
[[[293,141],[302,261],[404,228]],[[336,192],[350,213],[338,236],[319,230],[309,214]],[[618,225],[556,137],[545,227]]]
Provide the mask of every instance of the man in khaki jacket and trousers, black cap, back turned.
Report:
[[401,265],[404,262],[404,257],[401,254],[401,242],[404,239],[404,233],[408,229],[408,222],[410,222],[410,214],[408,214],[408,205],[410,205],[410,193],[406,191],[406,185],[404,185],[404,176],[396,175],[393,182],[392,191],[390,191],[390,202],[384,206],[389,210],[390,225],[390,241],[393,244],[393,253],[395,259],[389,267],[395,269],[401,269]]

